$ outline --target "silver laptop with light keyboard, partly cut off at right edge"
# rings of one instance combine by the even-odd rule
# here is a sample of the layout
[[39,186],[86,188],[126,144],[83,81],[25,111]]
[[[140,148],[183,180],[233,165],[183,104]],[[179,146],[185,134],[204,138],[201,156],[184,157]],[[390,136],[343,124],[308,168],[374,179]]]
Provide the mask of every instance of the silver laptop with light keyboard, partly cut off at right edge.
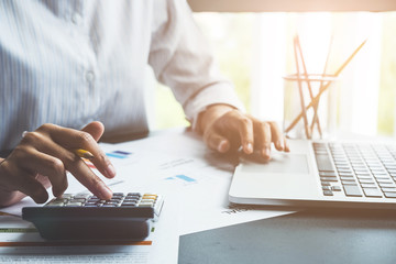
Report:
[[243,158],[229,200],[287,207],[396,209],[396,145],[292,140],[270,162]]

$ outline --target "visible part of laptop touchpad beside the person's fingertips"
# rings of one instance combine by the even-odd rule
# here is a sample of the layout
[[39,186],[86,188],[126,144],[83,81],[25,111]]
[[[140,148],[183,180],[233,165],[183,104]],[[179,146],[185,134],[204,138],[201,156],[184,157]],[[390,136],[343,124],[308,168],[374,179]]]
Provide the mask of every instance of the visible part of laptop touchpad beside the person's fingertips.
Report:
[[271,174],[309,174],[307,155],[274,153],[270,162],[251,163],[242,166],[244,173],[271,173]]

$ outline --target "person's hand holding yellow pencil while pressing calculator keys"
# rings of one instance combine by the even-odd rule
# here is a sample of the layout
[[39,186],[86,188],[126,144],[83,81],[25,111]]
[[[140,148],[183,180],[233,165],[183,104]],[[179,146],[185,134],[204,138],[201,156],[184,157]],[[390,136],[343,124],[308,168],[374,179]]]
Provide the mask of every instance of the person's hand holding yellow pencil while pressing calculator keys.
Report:
[[37,204],[48,199],[45,188],[52,186],[55,197],[67,188],[66,170],[101,199],[110,199],[112,191],[77,156],[73,150],[84,148],[94,154],[91,162],[108,178],[116,176],[114,167],[97,144],[105,128],[91,122],[81,131],[43,124],[26,132],[20,144],[6,158],[0,158],[0,206],[9,206],[25,195]]

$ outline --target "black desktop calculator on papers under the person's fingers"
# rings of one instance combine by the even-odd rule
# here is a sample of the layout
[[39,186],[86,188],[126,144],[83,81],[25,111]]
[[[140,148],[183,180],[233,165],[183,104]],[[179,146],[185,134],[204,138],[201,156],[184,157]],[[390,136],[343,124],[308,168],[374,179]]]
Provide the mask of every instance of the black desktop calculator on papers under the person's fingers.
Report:
[[22,218],[47,240],[143,240],[163,205],[156,194],[114,193],[110,200],[64,194],[43,207],[22,208]]

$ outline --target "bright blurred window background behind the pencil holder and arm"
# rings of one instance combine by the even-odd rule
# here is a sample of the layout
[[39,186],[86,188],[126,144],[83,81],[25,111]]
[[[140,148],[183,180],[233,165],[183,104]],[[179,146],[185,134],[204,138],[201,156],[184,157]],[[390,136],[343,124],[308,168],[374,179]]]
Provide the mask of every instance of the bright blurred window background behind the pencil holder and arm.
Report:
[[[332,74],[364,41],[337,82],[337,129],[396,135],[396,12],[196,12],[223,75],[250,113],[282,125],[284,79],[294,74],[298,34],[309,73]],[[186,125],[170,90],[156,85],[151,129]]]

